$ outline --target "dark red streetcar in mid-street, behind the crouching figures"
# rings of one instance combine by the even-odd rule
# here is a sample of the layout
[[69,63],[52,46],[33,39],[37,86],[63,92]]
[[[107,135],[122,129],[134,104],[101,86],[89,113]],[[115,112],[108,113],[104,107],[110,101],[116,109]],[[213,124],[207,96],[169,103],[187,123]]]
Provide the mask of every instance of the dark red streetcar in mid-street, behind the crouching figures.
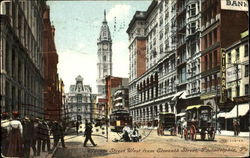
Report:
[[126,124],[132,127],[132,116],[127,110],[116,110],[110,115],[109,123],[112,132],[121,133]]

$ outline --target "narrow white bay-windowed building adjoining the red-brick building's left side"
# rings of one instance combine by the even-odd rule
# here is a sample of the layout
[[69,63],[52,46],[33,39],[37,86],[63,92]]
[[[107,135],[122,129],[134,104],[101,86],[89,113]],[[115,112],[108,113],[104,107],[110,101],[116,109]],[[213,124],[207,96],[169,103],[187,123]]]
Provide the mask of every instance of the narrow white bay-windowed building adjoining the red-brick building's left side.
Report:
[[187,87],[186,98],[200,96],[200,26],[201,0],[187,0],[186,11],[186,54]]

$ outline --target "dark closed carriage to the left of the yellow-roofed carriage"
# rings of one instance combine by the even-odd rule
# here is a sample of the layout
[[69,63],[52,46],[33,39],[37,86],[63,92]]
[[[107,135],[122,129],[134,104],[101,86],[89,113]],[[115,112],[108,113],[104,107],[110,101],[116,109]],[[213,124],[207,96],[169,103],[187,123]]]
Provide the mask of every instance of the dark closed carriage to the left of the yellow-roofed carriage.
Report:
[[170,131],[170,135],[175,135],[175,114],[171,112],[160,112],[158,135],[164,135],[164,131]]

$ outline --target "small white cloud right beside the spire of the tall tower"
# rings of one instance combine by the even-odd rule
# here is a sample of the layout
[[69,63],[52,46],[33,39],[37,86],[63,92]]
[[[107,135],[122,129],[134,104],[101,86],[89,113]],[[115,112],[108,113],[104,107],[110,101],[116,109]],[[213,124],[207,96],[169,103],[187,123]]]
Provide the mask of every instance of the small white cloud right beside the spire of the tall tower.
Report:
[[114,20],[114,17],[116,17],[117,19],[125,17],[129,14],[130,9],[131,9],[130,5],[117,4],[113,8],[111,8],[107,13],[107,20],[112,21]]

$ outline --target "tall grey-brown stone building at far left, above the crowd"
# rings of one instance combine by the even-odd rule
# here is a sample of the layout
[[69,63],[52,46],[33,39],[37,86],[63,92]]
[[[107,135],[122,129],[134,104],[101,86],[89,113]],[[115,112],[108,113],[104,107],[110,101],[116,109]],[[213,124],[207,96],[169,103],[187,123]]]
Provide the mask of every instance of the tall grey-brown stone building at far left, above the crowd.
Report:
[[43,118],[45,1],[1,1],[1,111]]

